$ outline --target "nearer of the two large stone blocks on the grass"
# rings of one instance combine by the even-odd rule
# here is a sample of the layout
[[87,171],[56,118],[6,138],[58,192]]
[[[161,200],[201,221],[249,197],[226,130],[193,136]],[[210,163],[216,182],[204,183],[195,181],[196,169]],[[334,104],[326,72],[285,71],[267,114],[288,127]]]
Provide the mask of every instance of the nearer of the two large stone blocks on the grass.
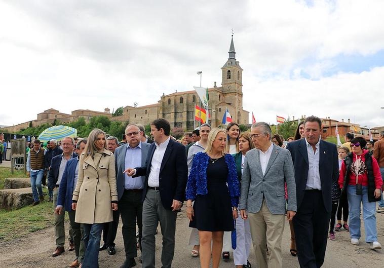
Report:
[[0,190],[0,207],[19,209],[33,203],[32,189],[4,189]]

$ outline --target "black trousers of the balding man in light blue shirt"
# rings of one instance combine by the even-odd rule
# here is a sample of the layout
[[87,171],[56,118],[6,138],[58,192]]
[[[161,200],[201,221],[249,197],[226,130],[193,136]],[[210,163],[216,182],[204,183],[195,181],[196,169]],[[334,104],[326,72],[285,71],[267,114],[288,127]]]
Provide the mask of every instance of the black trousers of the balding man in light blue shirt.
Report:
[[139,228],[139,244],[141,249],[143,226],[142,193],[142,190],[124,190],[118,205],[123,222],[122,233],[126,258],[137,257],[136,220]]

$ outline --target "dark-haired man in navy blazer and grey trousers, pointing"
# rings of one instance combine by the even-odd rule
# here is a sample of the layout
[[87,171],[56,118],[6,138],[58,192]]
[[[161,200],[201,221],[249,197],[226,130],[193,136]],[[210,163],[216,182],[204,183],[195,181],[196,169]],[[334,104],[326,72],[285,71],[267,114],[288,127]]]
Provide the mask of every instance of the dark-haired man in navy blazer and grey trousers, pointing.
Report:
[[128,176],[145,175],[143,189],[142,267],[155,268],[155,233],[160,221],[163,234],[162,267],[171,268],[175,251],[177,211],[185,197],[187,163],[185,147],[170,139],[165,119],[152,122],[155,142],[149,147],[146,165],[125,170]]

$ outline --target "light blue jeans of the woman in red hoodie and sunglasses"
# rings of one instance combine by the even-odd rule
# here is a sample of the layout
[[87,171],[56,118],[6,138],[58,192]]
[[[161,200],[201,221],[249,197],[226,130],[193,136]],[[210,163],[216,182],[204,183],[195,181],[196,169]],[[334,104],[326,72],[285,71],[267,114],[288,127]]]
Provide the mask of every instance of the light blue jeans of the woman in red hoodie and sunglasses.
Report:
[[365,228],[365,242],[377,241],[376,202],[368,202],[368,187],[363,186],[363,195],[356,195],[356,186],[348,185],[348,205],[350,207],[350,235],[360,239],[360,206],[363,203],[363,219]]

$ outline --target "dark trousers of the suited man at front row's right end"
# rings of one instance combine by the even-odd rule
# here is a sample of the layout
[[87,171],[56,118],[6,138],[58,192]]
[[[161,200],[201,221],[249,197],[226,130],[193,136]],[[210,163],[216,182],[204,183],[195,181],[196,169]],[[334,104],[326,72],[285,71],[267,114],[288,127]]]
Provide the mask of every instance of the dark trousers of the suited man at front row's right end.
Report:
[[305,190],[293,217],[297,258],[301,268],[319,268],[323,265],[330,217],[331,213],[324,207],[322,192]]

